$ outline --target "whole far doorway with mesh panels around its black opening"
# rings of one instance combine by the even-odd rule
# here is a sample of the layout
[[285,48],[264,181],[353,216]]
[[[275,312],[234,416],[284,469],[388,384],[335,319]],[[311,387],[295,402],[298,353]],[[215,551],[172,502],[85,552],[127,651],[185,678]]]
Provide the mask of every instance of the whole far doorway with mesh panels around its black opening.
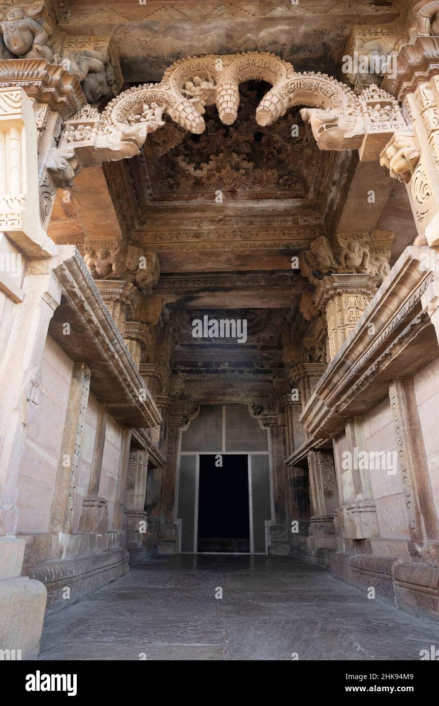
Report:
[[267,554],[268,436],[248,405],[201,405],[181,435],[176,495],[179,551]]

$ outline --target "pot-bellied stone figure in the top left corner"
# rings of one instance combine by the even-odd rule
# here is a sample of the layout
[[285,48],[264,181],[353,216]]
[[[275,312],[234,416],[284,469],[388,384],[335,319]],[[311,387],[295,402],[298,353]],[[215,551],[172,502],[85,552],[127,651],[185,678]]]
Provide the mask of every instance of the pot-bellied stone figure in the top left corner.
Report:
[[44,0],[29,5],[2,6],[1,13],[6,19],[0,23],[0,32],[9,52],[25,59],[47,59],[54,61],[52,54],[52,30],[40,16]]

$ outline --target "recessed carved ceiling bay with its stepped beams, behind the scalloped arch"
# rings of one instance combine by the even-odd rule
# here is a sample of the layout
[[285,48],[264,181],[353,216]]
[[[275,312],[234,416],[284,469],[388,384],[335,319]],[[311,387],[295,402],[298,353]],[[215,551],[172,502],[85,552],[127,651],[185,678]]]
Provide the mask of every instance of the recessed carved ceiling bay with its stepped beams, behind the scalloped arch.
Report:
[[290,269],[297,249],[330,230],[355,157],[318,150],[299,108],[258,126],[268,88],[241,85],[231,126],[206,107],[200,135],[169,122],[139,157],[105,166],[119,221],[138,224],[128,237],[159,253],[162,273]]

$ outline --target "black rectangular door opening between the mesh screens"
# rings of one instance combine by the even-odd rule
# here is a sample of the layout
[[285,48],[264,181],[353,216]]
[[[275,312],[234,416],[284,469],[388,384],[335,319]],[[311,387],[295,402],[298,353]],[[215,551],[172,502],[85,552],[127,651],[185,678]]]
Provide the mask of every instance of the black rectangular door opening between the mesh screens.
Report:
[[248,456],[200,455],[198,551],[250,551]]

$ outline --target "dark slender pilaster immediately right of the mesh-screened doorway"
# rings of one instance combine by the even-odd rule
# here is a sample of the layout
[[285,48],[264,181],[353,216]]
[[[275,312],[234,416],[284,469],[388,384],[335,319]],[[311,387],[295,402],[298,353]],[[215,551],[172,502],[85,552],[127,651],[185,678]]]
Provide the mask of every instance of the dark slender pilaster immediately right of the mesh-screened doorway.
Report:
[[284,463],[286,448],[285,428],[269,425],[270,462],[272,467],[275,525],[270,527],[270,554],[289,554],[289,527],[287,525],[287,481]]

